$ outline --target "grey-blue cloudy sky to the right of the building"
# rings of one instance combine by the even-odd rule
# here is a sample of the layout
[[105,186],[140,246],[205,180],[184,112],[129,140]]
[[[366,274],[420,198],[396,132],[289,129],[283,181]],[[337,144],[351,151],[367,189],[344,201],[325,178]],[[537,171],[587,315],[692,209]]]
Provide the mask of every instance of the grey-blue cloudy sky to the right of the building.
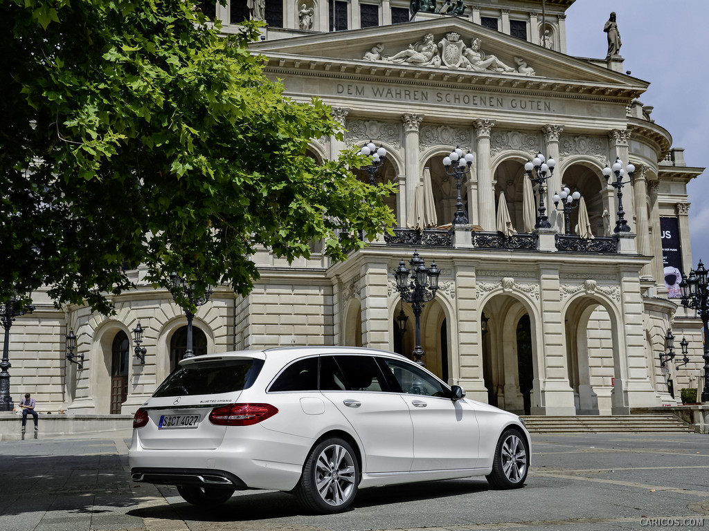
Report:
[[[603,25],[611,11],[623,42],[623,71],[650,82],[638,99],[654,107],[651,118],[672,135],[672,147],[685,149],[687,166],[709,168],[709,0],[576,0],[566,10],[566,52],[603,59]],[[709,263],[709,169],[687,190],[696,268],[699,259]]]

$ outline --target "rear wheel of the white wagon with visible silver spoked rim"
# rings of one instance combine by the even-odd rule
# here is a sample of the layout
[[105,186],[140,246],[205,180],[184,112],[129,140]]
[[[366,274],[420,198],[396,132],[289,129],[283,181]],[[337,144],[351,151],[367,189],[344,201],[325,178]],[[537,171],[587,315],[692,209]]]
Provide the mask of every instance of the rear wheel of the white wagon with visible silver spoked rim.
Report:
[[329,438],[311,450],[295,494],[306,510],[340,513],[357,496],[359,462],[347,441]]

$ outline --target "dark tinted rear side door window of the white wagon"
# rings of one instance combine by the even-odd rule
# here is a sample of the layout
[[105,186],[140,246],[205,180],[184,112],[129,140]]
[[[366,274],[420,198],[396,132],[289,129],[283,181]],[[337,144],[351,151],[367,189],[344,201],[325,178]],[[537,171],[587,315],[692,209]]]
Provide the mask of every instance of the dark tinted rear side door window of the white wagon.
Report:
[[384,375],[372,356],[323,356],[320,359],[320,389],[386,391]]

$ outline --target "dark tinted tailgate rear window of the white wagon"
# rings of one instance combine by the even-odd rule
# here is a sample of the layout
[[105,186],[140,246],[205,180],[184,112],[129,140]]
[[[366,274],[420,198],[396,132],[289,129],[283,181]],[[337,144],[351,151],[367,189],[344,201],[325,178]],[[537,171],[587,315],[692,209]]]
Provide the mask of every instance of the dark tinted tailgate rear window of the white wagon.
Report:
[[255,358],[197,362],[178,367],[152,396],[220,394],[248,389],[264,361]]

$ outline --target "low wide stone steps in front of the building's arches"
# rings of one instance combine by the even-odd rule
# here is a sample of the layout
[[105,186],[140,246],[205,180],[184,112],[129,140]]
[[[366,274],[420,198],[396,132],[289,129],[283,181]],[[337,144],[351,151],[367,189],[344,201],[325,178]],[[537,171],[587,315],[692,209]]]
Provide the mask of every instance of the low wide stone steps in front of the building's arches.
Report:
[[672,413],[611,416],[523,416],[530,433],[693,432]]

